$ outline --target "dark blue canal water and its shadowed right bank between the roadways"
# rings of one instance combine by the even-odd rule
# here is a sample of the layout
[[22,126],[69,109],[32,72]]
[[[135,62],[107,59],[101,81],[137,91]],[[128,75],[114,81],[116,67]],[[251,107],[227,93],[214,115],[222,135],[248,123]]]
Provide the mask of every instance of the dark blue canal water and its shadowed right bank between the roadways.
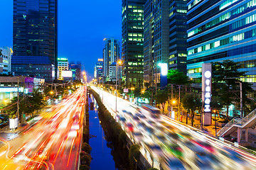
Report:
[[[94,110],[90,111],[90,103],[94,102]],[[105,126],[104,126],[105,127]],[[90,169],[129,169],[127,160],[123,159],[123,151],[115,147],[110,136],[105,135],[98,116],[95,99],[89,98],[89,144],[92,147]],[[114,162],[115,161],[115,162]]]

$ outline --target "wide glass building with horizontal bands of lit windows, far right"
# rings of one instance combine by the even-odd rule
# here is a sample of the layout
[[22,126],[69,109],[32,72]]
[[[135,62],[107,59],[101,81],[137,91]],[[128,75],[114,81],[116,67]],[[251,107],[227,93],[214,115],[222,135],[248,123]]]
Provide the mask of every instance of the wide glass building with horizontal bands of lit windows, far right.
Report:
[[188,76],[201,77],[202,63],[233,60],[256,82],[256,0],[188,1]]

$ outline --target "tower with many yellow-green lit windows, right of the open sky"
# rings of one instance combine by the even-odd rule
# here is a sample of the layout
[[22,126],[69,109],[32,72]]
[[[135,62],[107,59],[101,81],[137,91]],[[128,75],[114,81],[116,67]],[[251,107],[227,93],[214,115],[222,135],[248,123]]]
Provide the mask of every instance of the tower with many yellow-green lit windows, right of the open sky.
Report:
[[143,85],[145,2],[122,0],[122,80],[127,87]]

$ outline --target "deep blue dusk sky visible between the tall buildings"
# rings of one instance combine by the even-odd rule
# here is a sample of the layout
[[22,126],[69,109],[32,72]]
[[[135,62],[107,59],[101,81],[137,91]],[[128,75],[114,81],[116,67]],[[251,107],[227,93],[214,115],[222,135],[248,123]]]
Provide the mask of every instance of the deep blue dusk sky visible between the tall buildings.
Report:
[[[0,0],[0,47],[13,47],[13,0]],[[81,61],[90,77],[104,38],[121,40],[122,0],[58,0],[58,57]]]

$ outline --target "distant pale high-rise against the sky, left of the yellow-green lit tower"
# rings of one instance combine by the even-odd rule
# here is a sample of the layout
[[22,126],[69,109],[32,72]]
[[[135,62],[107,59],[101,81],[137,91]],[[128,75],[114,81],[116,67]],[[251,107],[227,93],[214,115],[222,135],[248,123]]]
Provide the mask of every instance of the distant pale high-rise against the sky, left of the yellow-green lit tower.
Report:
[[120,59],[119,41],[114,38],[105,38],[105,48],[103,49],[103,72],[104,81],[110,80],[110,64]]

